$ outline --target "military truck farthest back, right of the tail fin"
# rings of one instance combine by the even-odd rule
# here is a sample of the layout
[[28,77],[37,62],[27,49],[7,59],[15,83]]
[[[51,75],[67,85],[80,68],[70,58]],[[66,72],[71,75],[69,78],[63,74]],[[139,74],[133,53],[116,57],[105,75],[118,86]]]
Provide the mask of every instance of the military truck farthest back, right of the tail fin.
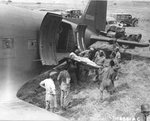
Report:
[[111,14],[112,17],[115,18],[117,22],[122,23],[124,26],[138,26],[138,18],[132,17],[131,14],[128,13],[113,13]]

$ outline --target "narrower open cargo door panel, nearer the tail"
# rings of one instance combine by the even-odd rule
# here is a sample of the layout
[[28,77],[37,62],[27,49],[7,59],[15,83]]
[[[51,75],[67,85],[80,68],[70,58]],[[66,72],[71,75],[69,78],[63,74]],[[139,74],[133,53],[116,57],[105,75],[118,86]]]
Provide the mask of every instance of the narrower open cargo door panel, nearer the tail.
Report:
[[80,49],[81,51],[85,50],[85,30],[86,30],[86,25],[81,25],[79,24],[76,28],[76,41],[77,41],[77,45],[78,45],[78,49]]

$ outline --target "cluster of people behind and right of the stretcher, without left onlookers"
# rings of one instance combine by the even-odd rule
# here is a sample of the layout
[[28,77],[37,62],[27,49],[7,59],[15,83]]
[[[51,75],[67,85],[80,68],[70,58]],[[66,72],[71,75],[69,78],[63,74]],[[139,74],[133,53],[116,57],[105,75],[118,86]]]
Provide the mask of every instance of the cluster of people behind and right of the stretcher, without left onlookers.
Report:
[[103,50],[95,50],[94,48],[90,48],[89,51],[83,51],[80,54],[83,53],[85,57],[88,57],[99,66],[98,69],[88,69],[88,71],[94,72],[95,78],[93,80],[98,81],[100,100],[103,100],[104,90],[106,90],[110,95],[112,95],[115,91],[114,81],[118,78],[118,70],[120,68],[121,60],[119,47],[117,46],[114,48],[111,55],[109,56],[109,64],[106,64],[106,54]]

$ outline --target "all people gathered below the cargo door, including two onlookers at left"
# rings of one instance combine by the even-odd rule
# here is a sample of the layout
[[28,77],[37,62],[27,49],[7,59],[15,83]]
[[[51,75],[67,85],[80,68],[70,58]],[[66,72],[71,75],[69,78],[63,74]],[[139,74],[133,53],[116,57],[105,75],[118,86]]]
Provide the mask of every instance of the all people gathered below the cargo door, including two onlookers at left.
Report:
[[[72,58],[82,60],[83,63],[79,63]],[[118,46],[115,46],[109,58],[106,58],[106,54],[103,50],[94,49],[90,47],[88,50],[80,51],[75,50],[70,58],[65,60],[66,66],[61,71],[51,71],[49,77],[41,81],[40,86],[46,89],[45,96],[45,108],[54,112],[57,105],[56,97],[56,85],[54,78],[59,82],[60,93],[60,106],[62,110],[66,110],[71,104],[70,88],[73,83],[75,92],[80,81],[87,80],[90,73],[94,74],[93,80],[99,84],[100,101],[103,100],[103,92],[106,90],[110,95],[115,92],[114,81],[118,78],[118,70],[120,69],[121,53]],[[109,64],[106,64],[106,61]],[[94,62],[98,68],[92,68],[86,65],[86,63]],[[57,74],[56,74],[57,73]],[[55,77],[57,75],[57,77]]]

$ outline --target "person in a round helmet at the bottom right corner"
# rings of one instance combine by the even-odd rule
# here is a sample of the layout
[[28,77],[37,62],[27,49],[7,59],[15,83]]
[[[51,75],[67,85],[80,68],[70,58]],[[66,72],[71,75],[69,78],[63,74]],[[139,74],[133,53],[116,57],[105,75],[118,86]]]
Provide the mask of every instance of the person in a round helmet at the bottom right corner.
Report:
[[147,121],[147,117],[150,115],[150,105],[149,104],[142,104],[141,105],[141,112],[135,115],[136,121]]

